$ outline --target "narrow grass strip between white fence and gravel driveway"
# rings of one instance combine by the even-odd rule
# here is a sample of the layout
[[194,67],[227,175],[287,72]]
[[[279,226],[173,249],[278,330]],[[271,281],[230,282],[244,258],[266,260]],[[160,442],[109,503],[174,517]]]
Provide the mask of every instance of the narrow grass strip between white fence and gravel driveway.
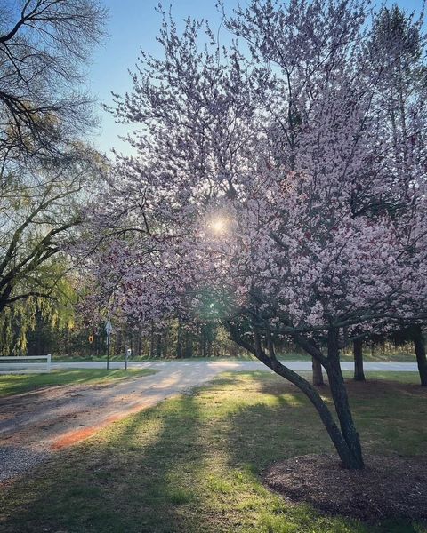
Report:
[[0,398],[12,394],[27,393],[46,386],[60,385],[94,385],[140,378],[155,374],[156,370],[105,370],[105,369],[70,369],[52,370],[49,374],[7,374],[0,376]]

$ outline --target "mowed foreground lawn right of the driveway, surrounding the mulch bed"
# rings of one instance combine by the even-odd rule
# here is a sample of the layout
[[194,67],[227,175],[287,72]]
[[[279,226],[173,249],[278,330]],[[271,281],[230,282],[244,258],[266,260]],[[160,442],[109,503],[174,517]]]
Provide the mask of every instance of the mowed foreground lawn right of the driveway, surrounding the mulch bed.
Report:
[[[349,384],[366,452],[425,454],[427,391],[417,376],[369,378]],[[331,451],[294,386],[261,371],[224,374],[62,450],[27,480],[0,489],[0,531],[427,531],[421,523],[372,526],[321,515],[263,487],[260,473],[272,462]]]

